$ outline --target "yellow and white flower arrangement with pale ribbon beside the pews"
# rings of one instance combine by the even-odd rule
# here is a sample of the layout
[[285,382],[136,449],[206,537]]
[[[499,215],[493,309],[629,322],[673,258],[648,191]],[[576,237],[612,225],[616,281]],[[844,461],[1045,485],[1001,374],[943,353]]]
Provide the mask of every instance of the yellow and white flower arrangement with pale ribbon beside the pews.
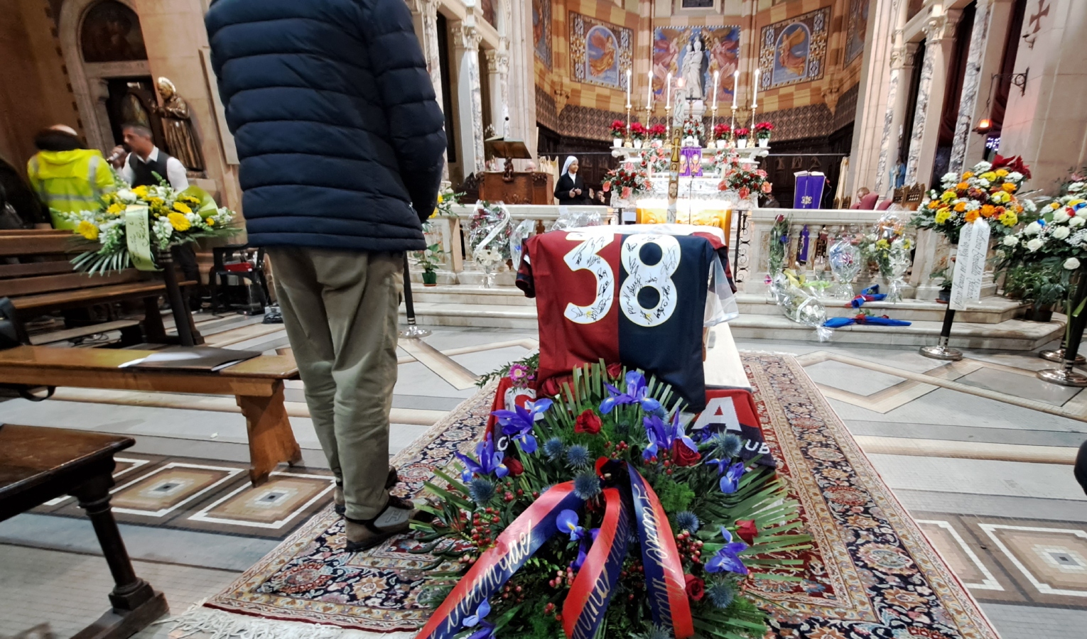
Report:
[[[149,241],[137,255],[137,266],[154,270],[154,252],[168,251],[171,247],[196,241],[203,237],[228,237],[238,233],[232,227],[234,212],[216,206],[207,191],[189,187],[174,190],[162,180],[155,186],[122,188],[102,196],[99,206],[92,210],[65,213],[75,226],[75,234],[87,242],[98,242],[72,260],[76,271],[104,274],[128,268],[134,264],[129,252],[128,225],[138,223],[129,213],[140,216],[146,206]],[[145,264],[143,260],[149,260]]]

